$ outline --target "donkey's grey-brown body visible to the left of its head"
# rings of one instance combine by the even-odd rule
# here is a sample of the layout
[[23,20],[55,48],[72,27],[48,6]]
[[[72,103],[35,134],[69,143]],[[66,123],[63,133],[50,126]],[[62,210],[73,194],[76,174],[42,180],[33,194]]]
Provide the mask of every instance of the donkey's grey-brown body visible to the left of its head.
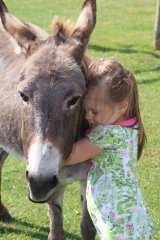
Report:
[[24,56],[17,57],[8,34],[0,30],[0,36],[0,147],[21,157],[23,105],[16,88]]

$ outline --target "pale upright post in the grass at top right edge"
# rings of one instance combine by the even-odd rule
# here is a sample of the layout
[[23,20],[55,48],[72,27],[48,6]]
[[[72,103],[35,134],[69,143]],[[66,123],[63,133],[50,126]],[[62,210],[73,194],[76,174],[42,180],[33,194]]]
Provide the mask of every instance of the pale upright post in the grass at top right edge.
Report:
[[160,0],[157,0],[155,32],[154,32],[154,47],[160,50]]

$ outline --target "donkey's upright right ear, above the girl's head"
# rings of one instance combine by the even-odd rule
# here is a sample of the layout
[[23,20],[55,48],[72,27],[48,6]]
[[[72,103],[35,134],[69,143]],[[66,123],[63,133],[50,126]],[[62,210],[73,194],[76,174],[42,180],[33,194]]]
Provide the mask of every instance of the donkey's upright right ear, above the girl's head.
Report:
[[85,0],[73,31],[71,54],[80,62],[84,56],[90,35],[96,24],[96,0]]

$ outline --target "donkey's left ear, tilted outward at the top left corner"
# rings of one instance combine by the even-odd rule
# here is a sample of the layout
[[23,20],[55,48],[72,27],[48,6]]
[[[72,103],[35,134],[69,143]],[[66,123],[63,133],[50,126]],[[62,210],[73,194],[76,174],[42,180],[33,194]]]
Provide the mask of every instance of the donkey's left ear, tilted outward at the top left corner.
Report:
[[35,33],[23,22],[8,13],[8,9],[2,0],[0,0],[0,17],[5,30],[27,52],[31,43],[37,39]]

